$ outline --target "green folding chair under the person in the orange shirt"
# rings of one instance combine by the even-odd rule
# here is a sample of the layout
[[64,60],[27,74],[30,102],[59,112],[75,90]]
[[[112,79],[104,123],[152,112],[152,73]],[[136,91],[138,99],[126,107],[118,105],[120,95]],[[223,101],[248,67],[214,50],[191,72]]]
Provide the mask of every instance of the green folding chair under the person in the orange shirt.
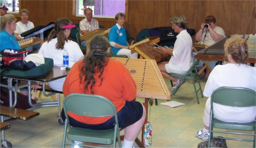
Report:
[[[74,141],[97,144],[113,144],[113,147],[115,147],[116,138],[118,139],[119,147],[122,147],[119,134],[118,116],[116,114],[115,106],[105,97],[90,94],[70,94],[65,97],[63,101],[63,109],[66,119],[62,147],[65,147],[66,144],[97,147],[86,144],[75,144]],[[113,129],[107,130],[92,130],[72,127],[70,125],[67,112],[89,117],[114,116],[115,125]],[[66,142],[66,139],[70,140],[71,142]]]

